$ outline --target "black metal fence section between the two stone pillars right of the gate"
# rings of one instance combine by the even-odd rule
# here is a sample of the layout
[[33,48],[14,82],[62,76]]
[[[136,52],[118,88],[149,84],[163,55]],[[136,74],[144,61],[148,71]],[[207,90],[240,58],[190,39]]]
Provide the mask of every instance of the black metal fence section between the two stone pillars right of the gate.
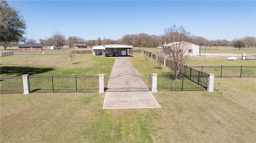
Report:
[[[204,75],[205,76],[205,75]],[[207,79],[208,76],[202,78],[200,75],[179,75],[178,80],[175,79],[175,75],[158,75],[157,76],[157,90],[158,91],[196,91],[206,90],[207,87],[200,86],[190,79]]]

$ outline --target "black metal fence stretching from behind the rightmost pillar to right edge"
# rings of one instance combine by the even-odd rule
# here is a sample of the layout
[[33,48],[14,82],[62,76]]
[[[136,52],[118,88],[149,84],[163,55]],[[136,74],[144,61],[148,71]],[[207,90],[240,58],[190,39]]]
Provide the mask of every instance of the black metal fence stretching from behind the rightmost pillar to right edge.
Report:
[[214,77],[256,77],[256,66],[189,66],[198,71],[214,73]]

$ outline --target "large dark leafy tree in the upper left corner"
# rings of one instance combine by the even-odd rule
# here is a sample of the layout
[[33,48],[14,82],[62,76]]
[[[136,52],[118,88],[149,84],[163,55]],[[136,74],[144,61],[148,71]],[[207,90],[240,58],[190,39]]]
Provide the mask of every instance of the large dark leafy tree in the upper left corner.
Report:
[[9,6],[6,0],[1,0],[0,4],[0,42],[6,49],[10,43],[18,43],[25,39],[23,35],[27,27],[23,16]]

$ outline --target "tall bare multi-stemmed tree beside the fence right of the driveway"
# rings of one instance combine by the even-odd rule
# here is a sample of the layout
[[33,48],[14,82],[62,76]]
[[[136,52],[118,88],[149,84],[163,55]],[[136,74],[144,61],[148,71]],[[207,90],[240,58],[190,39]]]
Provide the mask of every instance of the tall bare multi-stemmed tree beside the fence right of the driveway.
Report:
[[185,41],[190,41],[190,33],[183,26],[173,25],[164,30],[163,38],[169,43],[168,54],[172,60],[171,69],[174,71],[175,80],[178,80],[181,65],[189,59],[187,56],[189,43]]

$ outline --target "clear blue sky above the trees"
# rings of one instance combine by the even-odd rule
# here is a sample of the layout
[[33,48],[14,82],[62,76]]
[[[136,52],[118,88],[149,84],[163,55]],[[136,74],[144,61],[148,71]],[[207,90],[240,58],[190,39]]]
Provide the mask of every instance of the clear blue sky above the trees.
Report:
[[54,31],[86,40],[126,34],[161,35],[183,25],[209,40],[256,37],[256,1],[69,1],[8,0],[26,20],[27,35],[45,39]]

